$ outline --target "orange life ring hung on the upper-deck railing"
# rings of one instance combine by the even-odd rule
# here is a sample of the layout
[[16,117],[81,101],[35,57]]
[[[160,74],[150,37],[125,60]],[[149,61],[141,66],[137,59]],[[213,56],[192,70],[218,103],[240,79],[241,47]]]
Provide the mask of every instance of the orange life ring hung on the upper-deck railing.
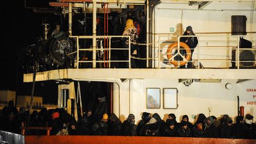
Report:
[[191,58],[191,50],[190,50],[190,47],[183,43],[183,42],[180,42],[180,48],[181,49],[185,49],[185,52],[187,53],[187,55],[185,55],[185,59],[184,61],[175,61],[175,60],[172,60],[172,50],[177,48],[178,47],[178,42],[175,42],[175,43],[172,43],[169,45],[168,49],[167,49],[167,58],[168,60],[170,60],[170,62],[172,63],[172,65],[175,65],[175,66],[183,66],[185,65]]

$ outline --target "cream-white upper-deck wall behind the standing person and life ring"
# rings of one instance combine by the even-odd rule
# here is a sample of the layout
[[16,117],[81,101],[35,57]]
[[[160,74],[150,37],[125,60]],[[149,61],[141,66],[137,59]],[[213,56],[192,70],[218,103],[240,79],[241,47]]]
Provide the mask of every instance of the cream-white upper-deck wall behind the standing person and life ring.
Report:
[[[170,43],[164,41],[177,41],[175,37],[162,37],[158,41],[158,37],[178,36],[182,35],[188,25],[193,27],[194,33],[198,36],[201,34],[212,35],[229,35],[223,33],[231,33],[231,16],[245,15],[247,17],[247,32],[256,31],[256,14],[253,2],[212,2],[204,9],[198,9],[198,6],[189,6],[188,4],[167,4],[162,3],[155,8],[155,53],[158,53],[160,47],[162,51],[161,60],[164,59],[163,54]],[[170,31],[174,28],[174,32]],[[215,34],[213,34],[215,33]],[[255,40],[255,37],[246,37],[248,40]],[[212,42],[210,40],[223,40]],[[228,42],[226,40],[229,40]],[[200,59],[230,59],[231,50],[227,50],[227,46],[237,46],[236,38],[228,37],[199,37]],[[255,46],[255,41],[252,41]],[[172,42],[171,42],[172,43]],[[205,46],[223,46],[219,49],[210,49]],[[221,49],[220,49],[221,48]],[[197,59],[197,50],[195,49],[193,59]],[[156,55],[157,56],[157,55]],[[231,63],[228,62],[202,62],[207,68],[227,68]],[[158,62],[155,63],[158,66]],[[168,67],[164,65],[164,67]]]

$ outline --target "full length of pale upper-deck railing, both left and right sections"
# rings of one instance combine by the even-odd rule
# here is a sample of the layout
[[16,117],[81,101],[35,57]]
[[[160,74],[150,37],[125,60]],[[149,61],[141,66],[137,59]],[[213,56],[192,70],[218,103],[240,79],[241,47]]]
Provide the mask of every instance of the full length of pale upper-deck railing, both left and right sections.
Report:
[[[97,46],[95,52],[98,54],[97,59],[82,59],[81,53],[90,53],[94,48],[87,44],[81,44],[81,40],[89,40],[94,36],[71,36],[76,39],[76,62],[75,68],[90,68],[91,66],[82,66],[81,63],[99,63],[97,68],[113,68],[111,63],[129,63],[127,68],[131,68],[131,58],[140,59],[140,57],[131,56],[131,41],[130,36],[95,36],[97,39]],[[128,47],[111,47],[113,38],[124,38],[129,40]],[[181,37],[197,37],[198,44],[194,48],[191,59],[186,59],[184,55],[184,49],[180,46]],[[252,42],[252,47],[241,48],[240,39],[243,37]],[[192,68],[215,68],[215,69],[229,69],[229,68],[255,68],[256,66],[256,49],[255,42],[256,36],[230,36],[230,35],[197,35],[197,36],[172,36],[169,34],[156,35],[155,43],[153,44],[152,57],[146,57],[142,60],[152,60],[153,68],[187,68],[187,63],[192,63]],[[101,40],[107,40],[107,44],[100,44]],[[175,52],[167,53],[170,44],[177,42],[177,46],[174,48]],[[113,60],[111,59],[111,52],[113,50],[128,50],[129,55],[124,57],[125,60]],[[102,53],[107,53],[107,56],[101,57]],[[100,53],[100,55],[99,55]],[[191,53],[192,54],[192,53]],[[69,55],[72,55],[70,53]],[[171,55],[171,59],[167,58],[167,55]],[[187,53],[187,55],[190,55]],[[242,56],[242,57],[241,57]],[[107,57],[107,58],[106,58]],[[177,57],[179,59],[177,60]],[[249,57],[249,59],[247,59]],[[252,59],[253,57],[253,59]],[[182,61],[185,61],[185,65],[180,65]],[[176,65],[173,63],[176,62]],[[104,66],[102,65],[104,63]]]

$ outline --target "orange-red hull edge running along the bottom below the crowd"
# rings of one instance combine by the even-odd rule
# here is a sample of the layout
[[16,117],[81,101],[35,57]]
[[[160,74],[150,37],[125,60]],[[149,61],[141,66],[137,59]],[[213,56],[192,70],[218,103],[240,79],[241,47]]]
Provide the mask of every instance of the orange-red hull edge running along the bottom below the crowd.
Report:
[[213,139],[213,138],[195,138],[195,137],[144,137],[144,136],[25,136],[25,143],[251,143],[256,140],[249,139]]

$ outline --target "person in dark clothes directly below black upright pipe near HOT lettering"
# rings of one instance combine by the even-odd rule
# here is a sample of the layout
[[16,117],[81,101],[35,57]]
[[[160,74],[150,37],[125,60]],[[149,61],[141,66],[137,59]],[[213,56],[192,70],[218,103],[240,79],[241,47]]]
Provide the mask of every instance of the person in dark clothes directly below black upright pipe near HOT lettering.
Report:
[[234,135],[235,135],[235,139],[242,139],[244,137],[243,120],[244,120],[243,116],[237,116],[236,117],[236,123],[233,124],[233,132],[234,132]]

